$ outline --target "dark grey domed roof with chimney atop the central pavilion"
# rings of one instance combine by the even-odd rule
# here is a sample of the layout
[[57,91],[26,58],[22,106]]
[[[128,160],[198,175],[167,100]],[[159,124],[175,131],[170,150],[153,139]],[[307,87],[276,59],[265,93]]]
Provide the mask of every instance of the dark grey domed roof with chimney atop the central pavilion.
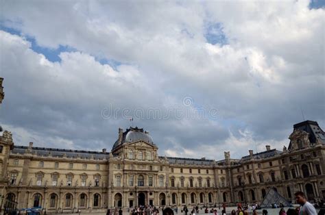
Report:
[[138,127],[130,127],[123,132],[123,129],[119,129],[119,138],[115,142],[113,149],[123,144],[124,142],[137,142],[143,141],[149,144],[154,144],[154,140],[149,136],[149,132],[139,129]]

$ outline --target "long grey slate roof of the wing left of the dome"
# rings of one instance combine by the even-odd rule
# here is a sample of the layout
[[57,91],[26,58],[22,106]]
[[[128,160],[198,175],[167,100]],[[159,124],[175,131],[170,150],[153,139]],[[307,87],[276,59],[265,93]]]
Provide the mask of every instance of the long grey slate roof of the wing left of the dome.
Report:
[[[25,154],[28,147],[14,146],[11,153]],[[32,147],[32,154],[39,156],[53,156],[53,157],[63,157],[65,154],[69,158],[80,157],[82,159],[104,160],[108,159],[109,153],[102,153],[98,151],[83,151],[83,150],[69,150],[69,149],[53,149],[53,148],[43,148],[43,147]]]

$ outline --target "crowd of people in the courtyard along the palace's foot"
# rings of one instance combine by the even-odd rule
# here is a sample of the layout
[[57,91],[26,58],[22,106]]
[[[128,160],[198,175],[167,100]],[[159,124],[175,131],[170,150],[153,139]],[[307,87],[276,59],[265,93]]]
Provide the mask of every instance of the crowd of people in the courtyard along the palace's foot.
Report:
[[[272,204],[273,208],[278,208],[280,207],[279,215],[324,215],[324,210],[320,210],[319,214],[317,214],[315,207],[309,203],[306,200],[306,197],[303,192],[296,192],[295,193],[296,197],[296,203],[300,204],[300,207],[292,208],[292,205],[290,205],[290,208],[287,210],[287,212],[284,209],[284,206],[282,203],[277,205],[276,203]],[[216,205],[215,205],[216,206]],[[162,208],[157,208],[154,205],[145,205],[145,206],[139,206],[135,207],[132,210],[129,210],[130,215],[158,215],[160,213],[160,210],[162,211],[163,215],[173,215],[173,214],[178,214],[178,207],[162,207]],[[219,210],[217,210],[217,207],[198,207],[193,206],[193,208],[187,208],[185,205],[181,213],[184,215],[195,215],[199,214],[200,210],[205,214],[214,214],[214,215],[227,215],[229,213],[226,212],[226,204],[222,205],[222,210],[221,210],[221,205],[219,205]],[[261,206],[258,205],[257,203],[253,204],[243,204],[243,203],[238,203],[237,205],[237,210],[232,210],[230,212],[230,215],[248,215],[248,214],[253,214],[257,215],[258,212],[257,210],[261,210]],[[267,215],[267,209],[262,210],[263,215]],[[123,215],[123,211],[121,208],[115,208],[115,210],[108,210],[106,215]]]

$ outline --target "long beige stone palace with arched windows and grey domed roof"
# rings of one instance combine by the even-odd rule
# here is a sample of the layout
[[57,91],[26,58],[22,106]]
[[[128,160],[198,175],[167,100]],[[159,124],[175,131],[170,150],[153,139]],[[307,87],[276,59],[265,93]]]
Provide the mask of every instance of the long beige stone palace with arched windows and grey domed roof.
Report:
[[0,190],[16,207],[47,212],[104,212],[136,205],[228,205],[261,202],[269,188],[289,201],[302,190],[309,201],[325,198],[325,138],[316,122],[293,126],[290,144],[241,159],[158,156],[147,131],[119,129],[112,151],[15,146],[0,136]]

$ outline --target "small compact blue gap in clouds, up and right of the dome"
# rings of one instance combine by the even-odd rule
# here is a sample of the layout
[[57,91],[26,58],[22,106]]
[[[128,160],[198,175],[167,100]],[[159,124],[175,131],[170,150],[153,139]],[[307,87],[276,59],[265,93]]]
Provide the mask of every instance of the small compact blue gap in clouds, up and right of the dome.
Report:
[[206,26],[204,37],[206,41],[212,45],[220,44],[222,46],[228,44],[227,37],[224,34],[224,27],[221,23],[209,23]]

